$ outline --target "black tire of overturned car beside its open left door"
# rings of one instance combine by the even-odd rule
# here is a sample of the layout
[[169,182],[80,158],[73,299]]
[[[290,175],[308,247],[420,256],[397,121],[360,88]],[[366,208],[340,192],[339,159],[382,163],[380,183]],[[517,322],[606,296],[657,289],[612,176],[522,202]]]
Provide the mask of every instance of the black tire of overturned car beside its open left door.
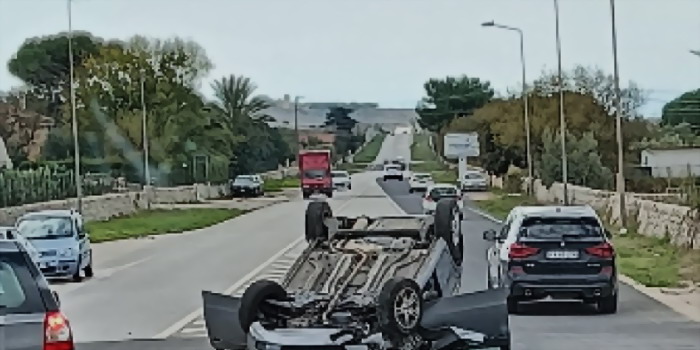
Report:
[[241,308],[238,309],[238,321],[247,334],[250,325],[257,321],[263,305],[268,300],[282,300],[287,292],[279,283],[270,280],[259,280],[246,288],[241,297]]

